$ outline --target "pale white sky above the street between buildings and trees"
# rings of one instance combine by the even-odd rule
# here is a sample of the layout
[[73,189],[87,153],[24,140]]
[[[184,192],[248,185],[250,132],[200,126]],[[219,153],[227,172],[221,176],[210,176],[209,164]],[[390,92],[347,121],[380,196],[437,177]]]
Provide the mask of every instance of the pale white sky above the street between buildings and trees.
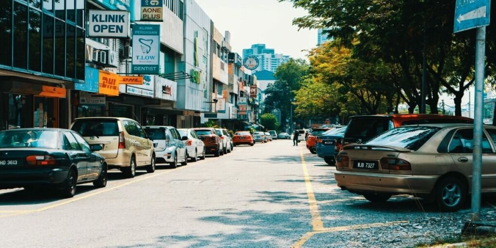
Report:
[[243,56],[243,49],[264,43],[278,54],[306,59],[307,52],[317,44],[317,30],[292,25],[293,18],[307,11],[293,8],[290,2],[277,0],[196,0],[224,34],[231,33],[233,52]]

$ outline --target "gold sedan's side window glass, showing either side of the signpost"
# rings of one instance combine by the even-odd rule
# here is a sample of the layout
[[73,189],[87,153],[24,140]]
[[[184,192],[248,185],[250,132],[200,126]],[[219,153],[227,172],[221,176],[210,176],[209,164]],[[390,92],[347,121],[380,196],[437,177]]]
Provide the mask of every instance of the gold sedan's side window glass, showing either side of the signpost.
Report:
[[[473,129],[461,129],[458,130],[451,142],[449,143],[448,152],[450,153],[472,153],[474,146],[474,130]],[[482,152],[492,153],[493,149],[489,144],[488,137],[483,134],[482,137]]]

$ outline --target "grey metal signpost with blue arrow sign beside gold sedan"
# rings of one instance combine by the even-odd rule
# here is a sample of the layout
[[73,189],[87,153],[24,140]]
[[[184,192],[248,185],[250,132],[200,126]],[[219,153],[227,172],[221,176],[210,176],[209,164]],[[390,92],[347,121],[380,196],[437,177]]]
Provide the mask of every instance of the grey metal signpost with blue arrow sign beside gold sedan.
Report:
[[477,28],[475,47],[474,143],[472,146],[472,221],[481,218],[482,135],[486,26],[491,0],[456,0],[453,32]]

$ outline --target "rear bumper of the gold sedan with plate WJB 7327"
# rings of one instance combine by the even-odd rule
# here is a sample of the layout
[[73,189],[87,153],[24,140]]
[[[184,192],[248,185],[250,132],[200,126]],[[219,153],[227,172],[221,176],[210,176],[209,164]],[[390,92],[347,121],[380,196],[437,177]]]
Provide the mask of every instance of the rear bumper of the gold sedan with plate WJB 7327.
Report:
[[337,171],[334,173],[338,187],[358,194],[367,192],[430,194],[437,178],[437,175],[371,174],[356,171]]

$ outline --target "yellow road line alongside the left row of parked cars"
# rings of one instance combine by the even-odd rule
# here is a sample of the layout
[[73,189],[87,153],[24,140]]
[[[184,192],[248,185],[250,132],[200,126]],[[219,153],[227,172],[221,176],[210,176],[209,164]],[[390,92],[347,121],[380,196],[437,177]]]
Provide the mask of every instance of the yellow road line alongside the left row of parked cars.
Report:
[[[232,153],[235,153],[235,151],[231,152]],[[226,154],[226,155],[229,155],[229,154]],[[224,155],[224,156],[226,156]],[[112,190],[115,190],[115,189],[118,189],[120,187],[124,187],[124,186],[128,186],[130,184],[134,184],[134,183],[137,183],[137,182],[141,182],[143,180],[147,180],[147,179],[151,179],[151,178],[155,178],[155,177],[158,177],[158,176],[161,176],[161,175],[164,175],[164,174],[167,174],[167,173],[171,173],[171,172],[175,172],[175,171],[178,171],[178,170],[183,170],[183,169],[186,169],[186,168],[191,168],[193,166],[196,166],[196,165],[200,165],[200,164],[204,164],[206,162],[210,162],[210,161],[214,161],[214,160],[217,160],[217,159],[220,159],[221,157],[217,157],[217,158],[212,158],[212,159],[208,159],[208,160],[203,160],[203,161],[200,161],[200,162],[195,162],[194,164],[191,164],[189,166],[182,166],[182,167],[179,167],[179,168],[176,168],[176,169],[172,169],[172,170],[168,170],[168,171],[165,171],[165,172],[162,172],[162,173],[154,173],[150,176],[147,176],[147,177],[143,177],[143,178],[138,178],[138,179],[135,179],[135,180],[132,180],[132,181],[129,181],[129,182],[126,182],[126,183],[123,183],[123,184],[119,184],[117,186],[113,186],[113,187],[110,187],[110,188],[105,188],[103,190],[100,190],[100,191],[96,191],[96,192],[93,192],[93,193],[89,193],[89,194],[84,194],[80,197],[73,197],[71,199],[68,199],[68,200],[65,200],[65,201],[62,201],[60,203],[56,203],[56,204],[52,204],[52,205],[48,205],[46,207],[42,207],[42,208],[38,208],[38,209],[34,209],[34,210],[22,210],[22,211],[12,211],[12,212],[8,212],[8,213],[11,213],[11,214],[7,214],[7,215],[0,215],[0,218],[4,218],[4,217],[9,217],[9,216],[15,216],[15,215],[21,215],[21,214],[29,214],[29,213],[35,213],[35,212],[41,212],[41,211],[45,211],[45,210],[48,210],[48,209],[52,209],[52,208],[56,208],[56,207],[60,207],[62,205],[65,205],[65,204],[68,204],[68,203],[72,203],[72,202],[76,202],[76,201],[79,201],[79,200],[83,200],[83,199],[87,199],[89,197],[92,197],[92,196],[95,196],[95,195],[99,195],[101,193],[105,193],[105,192],[109,192],[109,191],[112,191]],[[0,213],[1,213],[2,210],[0,210]],[[5,211],[9,211],[9,210],[5,210]],[[7,212],[5,212],[7,213]]]

